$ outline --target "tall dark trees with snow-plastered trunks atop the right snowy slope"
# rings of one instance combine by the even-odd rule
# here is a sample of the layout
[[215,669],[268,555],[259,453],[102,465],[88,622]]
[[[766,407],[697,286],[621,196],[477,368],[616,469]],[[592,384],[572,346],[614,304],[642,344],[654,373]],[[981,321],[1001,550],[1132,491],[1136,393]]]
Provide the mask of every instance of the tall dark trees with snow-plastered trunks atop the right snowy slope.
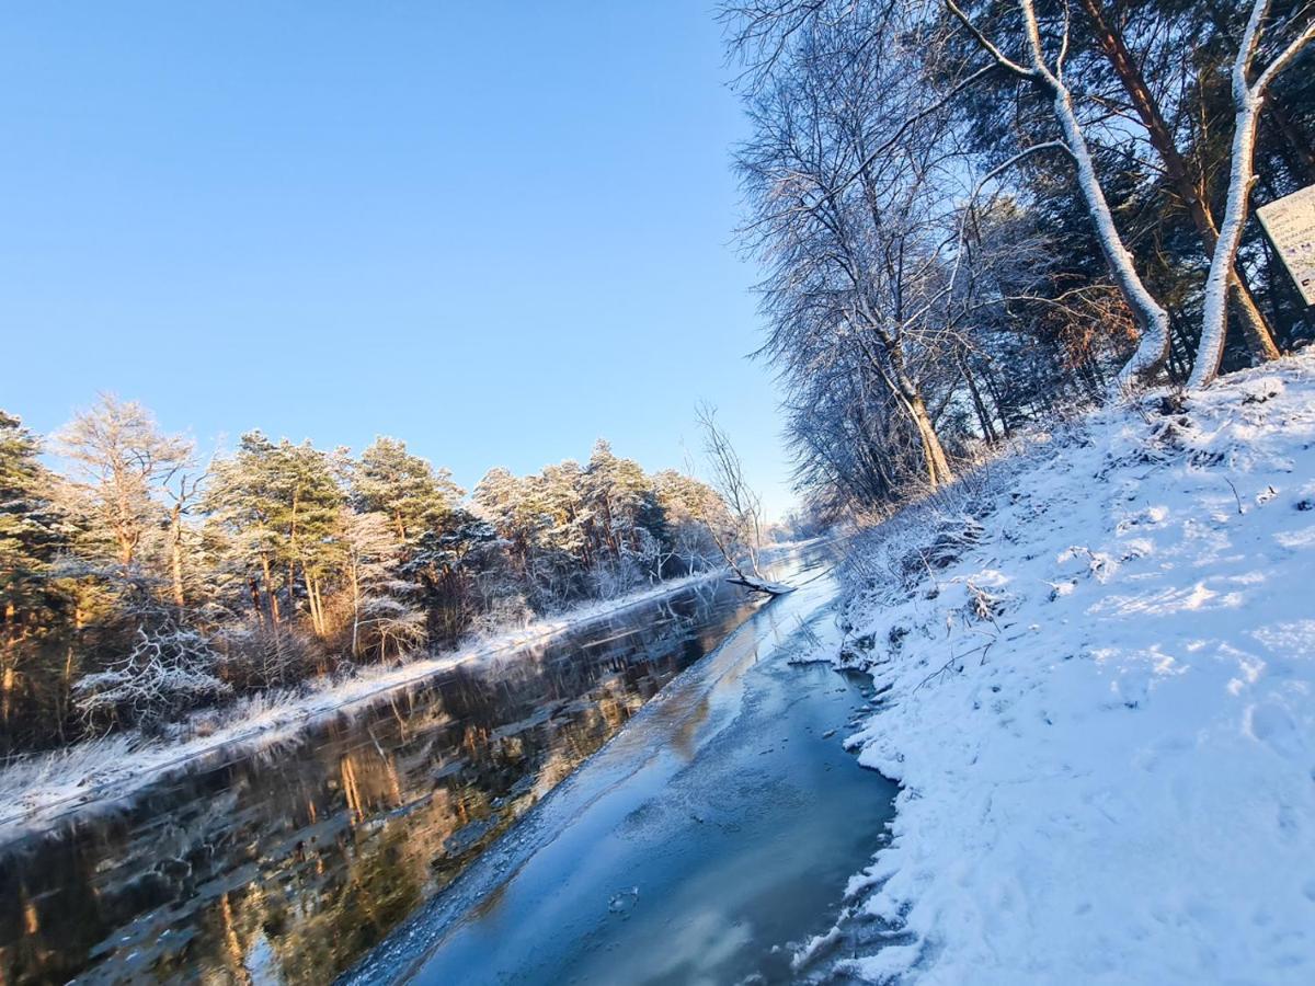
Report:
[[1315,334],[1248,221],[1315,183],[1310,4],[723,13],[761,355],[825,511],[897,504],[1061,409],[1205,385]]

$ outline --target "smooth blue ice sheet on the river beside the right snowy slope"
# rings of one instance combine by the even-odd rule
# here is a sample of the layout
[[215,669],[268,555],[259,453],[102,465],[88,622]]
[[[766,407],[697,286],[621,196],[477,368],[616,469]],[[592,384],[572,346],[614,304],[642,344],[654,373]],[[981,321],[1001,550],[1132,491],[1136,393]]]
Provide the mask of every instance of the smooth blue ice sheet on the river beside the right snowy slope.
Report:
[[792,956],[836,922],[896,794],[840,747],[871,680],[792,663],[831,592],[814,578],[752,615],[348,979],[826,977],[828,956]]

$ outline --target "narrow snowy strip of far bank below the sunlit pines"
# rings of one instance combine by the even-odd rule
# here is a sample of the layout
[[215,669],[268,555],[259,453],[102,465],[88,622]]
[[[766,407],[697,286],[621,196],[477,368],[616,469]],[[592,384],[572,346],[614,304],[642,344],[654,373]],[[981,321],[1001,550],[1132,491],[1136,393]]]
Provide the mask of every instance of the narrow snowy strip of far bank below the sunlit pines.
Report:
[[455,651],[401,665],[356,668],[347,678],[317,680],[300,689],[250,695],[220,710],[197,714],[174,739],[149,740],[125,732],[14,761],[0,769],[0,844],[95,810],[97,803],[125,798],[166,774],[289,740],[322,716],[363,709],[398,688],[459,664],[544,643],[568,630],[586,627],[725,575],[711,571],[668,580],[485,635]]

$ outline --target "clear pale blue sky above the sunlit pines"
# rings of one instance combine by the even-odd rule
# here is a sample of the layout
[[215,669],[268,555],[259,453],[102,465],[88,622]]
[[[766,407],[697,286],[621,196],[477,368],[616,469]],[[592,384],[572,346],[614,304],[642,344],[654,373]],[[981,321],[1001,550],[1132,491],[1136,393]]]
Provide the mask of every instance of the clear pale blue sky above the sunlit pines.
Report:
[[711,0],[5,5],[0,406],[469,486],[680,465],[706,397],[781,510],[727,75]]

